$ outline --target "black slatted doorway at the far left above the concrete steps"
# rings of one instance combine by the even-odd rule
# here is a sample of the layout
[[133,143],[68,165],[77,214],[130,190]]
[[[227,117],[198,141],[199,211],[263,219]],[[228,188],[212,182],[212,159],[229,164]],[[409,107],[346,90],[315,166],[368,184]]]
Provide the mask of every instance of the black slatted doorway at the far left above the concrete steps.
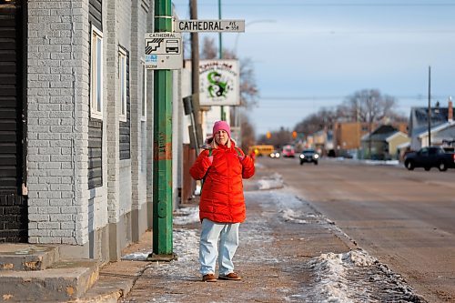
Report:
[[0,0],[0,242],[28,237],[24,12],[22,1]]

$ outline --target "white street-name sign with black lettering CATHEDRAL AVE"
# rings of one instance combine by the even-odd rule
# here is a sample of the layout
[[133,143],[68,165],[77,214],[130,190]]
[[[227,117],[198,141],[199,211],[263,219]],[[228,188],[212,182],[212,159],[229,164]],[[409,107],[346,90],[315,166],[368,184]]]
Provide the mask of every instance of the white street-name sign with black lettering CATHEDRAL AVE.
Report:
[[175,32],[245,32],[245,20],[175,20]]

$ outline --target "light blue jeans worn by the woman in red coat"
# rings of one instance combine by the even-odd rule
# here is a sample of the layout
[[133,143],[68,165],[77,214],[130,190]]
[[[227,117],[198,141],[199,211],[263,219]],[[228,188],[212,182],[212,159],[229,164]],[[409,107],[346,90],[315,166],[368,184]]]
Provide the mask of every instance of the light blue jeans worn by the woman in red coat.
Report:
[[225,276],[234,272],[232,258],[238,247],[239,226],[240,223],[216,223],[207,218],[202,220],[199,242],[199,262],[202,275],[215,274],[217,259],[219,275]]

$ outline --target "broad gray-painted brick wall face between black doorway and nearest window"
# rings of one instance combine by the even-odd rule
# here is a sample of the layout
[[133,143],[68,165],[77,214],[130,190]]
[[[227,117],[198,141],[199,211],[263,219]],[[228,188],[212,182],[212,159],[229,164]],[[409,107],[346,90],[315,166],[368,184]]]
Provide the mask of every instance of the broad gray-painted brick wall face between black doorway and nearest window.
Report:
[[28,2],[29,242],[84,244],[88,6]]

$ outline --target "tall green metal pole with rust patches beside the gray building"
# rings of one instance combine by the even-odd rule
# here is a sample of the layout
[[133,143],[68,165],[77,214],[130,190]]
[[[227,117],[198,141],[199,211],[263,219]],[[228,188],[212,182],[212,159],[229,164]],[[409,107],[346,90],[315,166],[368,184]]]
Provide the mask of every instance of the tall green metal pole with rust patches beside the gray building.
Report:
[[[155,0],[155,32],[172,31],[171,0]],[[172,72],[156,70],[153,114],[153,254],[171,260],[172,251]]]

